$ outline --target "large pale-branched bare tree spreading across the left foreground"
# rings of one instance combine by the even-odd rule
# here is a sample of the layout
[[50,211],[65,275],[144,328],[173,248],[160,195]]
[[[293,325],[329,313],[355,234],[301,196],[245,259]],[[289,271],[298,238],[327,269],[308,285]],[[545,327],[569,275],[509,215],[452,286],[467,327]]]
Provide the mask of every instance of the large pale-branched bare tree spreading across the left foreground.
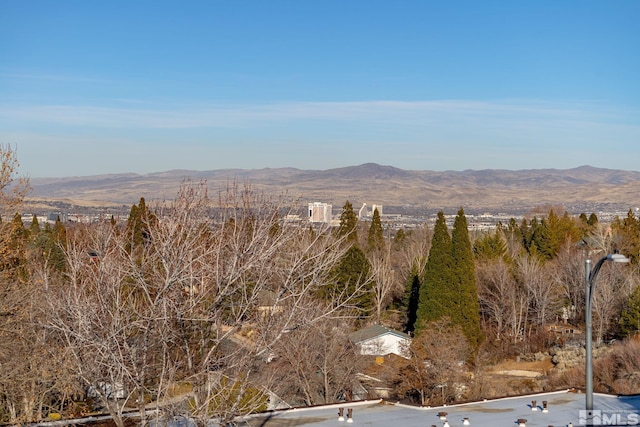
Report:
[[[320,304],[345,245],[284,222],[281,200],[233,186],[211,204],[206,184],[186,183],[143,218],[137,246],[106,223],[69,237],[70,283],[52,326],[76,374],[120,425],[125,405],[137,401],[144,419],[145,403],[162,409],[178,381],[191,386],[182,410],[198,419],[227,422],[255,410],[264,402],[247,396],[269,384],[251,383],[248,373],[288,331],[343,316],[363,290]],[[126,398],[114,400],[114,389]]]

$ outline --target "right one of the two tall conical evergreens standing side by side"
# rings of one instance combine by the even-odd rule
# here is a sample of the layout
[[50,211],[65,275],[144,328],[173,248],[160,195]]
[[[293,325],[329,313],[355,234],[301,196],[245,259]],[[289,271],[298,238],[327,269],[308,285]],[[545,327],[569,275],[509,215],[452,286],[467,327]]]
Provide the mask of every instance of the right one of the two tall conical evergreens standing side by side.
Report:
[[460,208],[451,232],[454,283],[450,318],[462,328],[472,348],[477,348],[482,339],[480,329],[480,302],[476,287],[469,228],[464,210]]

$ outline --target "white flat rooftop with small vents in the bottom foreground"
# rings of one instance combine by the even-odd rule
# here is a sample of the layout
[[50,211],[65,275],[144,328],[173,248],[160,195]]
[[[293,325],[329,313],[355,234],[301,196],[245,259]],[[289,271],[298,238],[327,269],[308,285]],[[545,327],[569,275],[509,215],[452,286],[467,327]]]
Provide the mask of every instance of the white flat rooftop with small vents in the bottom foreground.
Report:
[[[534,400],[535,411],[531,406]],[[543,411],[543,401],[547,402],[546,412]],[[339,408],[344,408],[344,421],[338,420]],[[348,408],[353,411],[352,422],[347,420]],[[446,412],[446,421],[450,427],[462,427],[465,425],[465,418],[470,426],[519,426],[519,420],[527,420],[527,427],[567,427],[586,424],[584,409],[585,395],[575,391],[540,393],[433,408],[374,400],[258,414],[239,420],[238,426],[442,427],[445,421],[440,419],[438,414]],[[640,425],[640,396],[595,394],[594,409],[594,425]]]

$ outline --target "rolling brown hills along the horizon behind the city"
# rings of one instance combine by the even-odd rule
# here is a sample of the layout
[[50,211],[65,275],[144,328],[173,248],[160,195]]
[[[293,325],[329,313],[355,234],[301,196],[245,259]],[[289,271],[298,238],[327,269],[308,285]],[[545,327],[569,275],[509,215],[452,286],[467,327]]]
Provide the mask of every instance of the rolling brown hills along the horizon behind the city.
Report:
[[[517,212],[536,206],[563,206],[570,212],[640,206],[640,172],[581,166],[574,169],[416,171],[367,163],[327,170],[173,170],[31,180],[32,204],[122,206],[175,197],[184,180],[206,181],[211,194],[230,183],[341,206],[366,202],[401,209]],[[590,209],[592,207],[592,209]]]

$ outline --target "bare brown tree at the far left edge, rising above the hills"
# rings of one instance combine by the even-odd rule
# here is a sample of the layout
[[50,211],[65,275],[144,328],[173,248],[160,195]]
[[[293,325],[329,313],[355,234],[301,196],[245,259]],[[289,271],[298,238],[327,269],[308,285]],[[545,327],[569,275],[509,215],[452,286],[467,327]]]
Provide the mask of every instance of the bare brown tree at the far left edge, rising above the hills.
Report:
[[39,328],[49,269],[30,252],[20,221],[29,180],[17,176],[18,167],[16,150],[0,144],[0,414],[11,423],[42,418],[61,371],[55,340]]

